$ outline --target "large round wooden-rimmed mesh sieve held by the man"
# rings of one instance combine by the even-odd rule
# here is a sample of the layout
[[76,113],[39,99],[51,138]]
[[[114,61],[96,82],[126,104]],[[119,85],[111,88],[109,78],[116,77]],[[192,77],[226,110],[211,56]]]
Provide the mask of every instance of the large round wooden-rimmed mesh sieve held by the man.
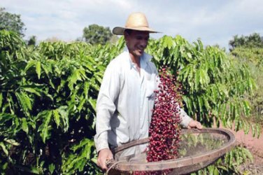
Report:
[[207,167],[234,147],[234,134],[222,129],[182,130],[178,156],[147,162],[149,139],[115,148],[108,174],[188,174]]

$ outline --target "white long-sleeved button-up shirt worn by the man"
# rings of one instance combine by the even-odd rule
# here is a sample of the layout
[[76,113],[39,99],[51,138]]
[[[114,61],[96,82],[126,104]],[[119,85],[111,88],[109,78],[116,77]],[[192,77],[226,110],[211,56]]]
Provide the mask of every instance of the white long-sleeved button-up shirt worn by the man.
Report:
[[[97,152],[109,145],[114,148],[148,137],[158,85],[158,72],[151,58],[143,53],[140,73],[127,49],[108,64],[97,99]],[[183,126],[192,120],[182,109],[180,117]]]

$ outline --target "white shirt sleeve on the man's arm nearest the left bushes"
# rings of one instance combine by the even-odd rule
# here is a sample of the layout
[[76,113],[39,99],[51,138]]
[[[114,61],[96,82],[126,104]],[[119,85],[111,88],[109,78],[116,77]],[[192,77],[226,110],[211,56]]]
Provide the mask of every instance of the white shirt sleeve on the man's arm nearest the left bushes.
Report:
[[97,152],[109,148],[108,131],[111,130],[110,120],[115,113],[115,101],[120,92],[119,75],[112,62],[107,66],[97,99],[96,135],[94,142]]

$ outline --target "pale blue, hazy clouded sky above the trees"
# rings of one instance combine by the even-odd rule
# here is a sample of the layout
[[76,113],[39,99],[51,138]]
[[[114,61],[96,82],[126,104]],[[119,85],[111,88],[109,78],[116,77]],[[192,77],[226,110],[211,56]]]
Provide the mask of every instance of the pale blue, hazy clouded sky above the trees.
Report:
[[25,39],[38,41],[56,37],[73,41],[92,24],[124,26],[128,15],[141,11],[150,27],[164,35],[201,38],[204,45],[218,44],[228,49],[234,35],[254,32],[263,36],[262,0],[1,0],[0,7],[20,14],[27,30]]

